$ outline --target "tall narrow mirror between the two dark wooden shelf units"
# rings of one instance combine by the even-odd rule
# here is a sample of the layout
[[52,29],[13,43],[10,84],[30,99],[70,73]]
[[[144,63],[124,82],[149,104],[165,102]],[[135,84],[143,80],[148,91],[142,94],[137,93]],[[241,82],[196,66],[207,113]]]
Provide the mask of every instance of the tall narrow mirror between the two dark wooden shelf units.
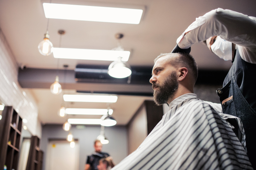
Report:
[[[24,123],[23,123],[24,125]],[[25,125],[24,125],[25,126]],[[26,127],[21,130],[21,146],[20,146],[20,156],[17,170],[26,170],[26,164],[29,156],[31,133]]]

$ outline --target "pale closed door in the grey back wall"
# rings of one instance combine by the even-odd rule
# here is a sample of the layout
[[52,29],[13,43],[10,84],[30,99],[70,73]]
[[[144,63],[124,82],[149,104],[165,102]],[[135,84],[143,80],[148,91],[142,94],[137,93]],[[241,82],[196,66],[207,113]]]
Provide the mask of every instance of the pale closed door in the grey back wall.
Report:
[[75,147],[63,140],[49,140],[46,158],[47,170],[78,170],[79,169],[79,143],[75,140]]

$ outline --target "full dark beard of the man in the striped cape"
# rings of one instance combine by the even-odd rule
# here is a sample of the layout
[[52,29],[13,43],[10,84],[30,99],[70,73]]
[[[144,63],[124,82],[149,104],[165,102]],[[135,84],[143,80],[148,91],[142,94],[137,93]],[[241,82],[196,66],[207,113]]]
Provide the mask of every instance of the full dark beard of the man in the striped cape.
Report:
[[154,102],[157,105],[163,105],[171,99],[177,89],[178,89],[178,81],[176,77],[176,72],[172,71],[172,73],[165,79],[163,85],[159,85],[157,83],[153,83],[152,88],[158,87],[157,90],[154,90]]

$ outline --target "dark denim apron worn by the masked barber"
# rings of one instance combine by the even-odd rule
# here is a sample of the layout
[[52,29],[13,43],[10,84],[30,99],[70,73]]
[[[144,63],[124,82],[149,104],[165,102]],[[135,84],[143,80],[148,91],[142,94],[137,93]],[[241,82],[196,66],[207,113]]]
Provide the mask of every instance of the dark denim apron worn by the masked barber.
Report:
[[247,154],[256,170],[256,64],[241,59],[239,51],[223,88],[217,90],[223,113],[239,117],[244,126]]

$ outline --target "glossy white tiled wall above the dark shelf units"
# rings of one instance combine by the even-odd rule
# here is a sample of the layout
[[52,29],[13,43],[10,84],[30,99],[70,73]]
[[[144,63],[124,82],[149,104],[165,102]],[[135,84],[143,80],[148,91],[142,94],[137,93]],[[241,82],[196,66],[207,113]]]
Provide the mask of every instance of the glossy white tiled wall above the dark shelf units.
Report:
[[28,120],[26,126],[33,135],[41,137],[38,108],[28,91],[18,83],[18,65],[0,28],[0,100],[13,106],[21,118]]

